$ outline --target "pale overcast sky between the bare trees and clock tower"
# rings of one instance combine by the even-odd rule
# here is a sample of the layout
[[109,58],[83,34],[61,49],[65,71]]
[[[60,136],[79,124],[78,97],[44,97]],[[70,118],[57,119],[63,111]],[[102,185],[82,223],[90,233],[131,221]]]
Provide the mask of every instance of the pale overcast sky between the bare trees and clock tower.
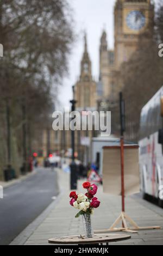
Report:
[[[157,2],[158,0],[155,0]],[[59,100],[62,107],[70,106],[72,85],[80,74],[84,31],[87,33],[87,45],[92,61],[92,75],[98,80],[99,75],[99,42],[105,28],[108,45],[114,48],[114,5],[116,0],[68,0],[74,14],[74,31],[78,35],[69,60],[69,76],[64,79],[60,89]]]

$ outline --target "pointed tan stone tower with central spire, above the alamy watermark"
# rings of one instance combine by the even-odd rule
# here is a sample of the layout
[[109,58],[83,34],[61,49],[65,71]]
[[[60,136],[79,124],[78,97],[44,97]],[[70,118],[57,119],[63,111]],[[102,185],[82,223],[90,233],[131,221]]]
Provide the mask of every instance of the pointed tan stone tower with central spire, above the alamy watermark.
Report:
[[80,77],[75,86],[77,108],[96,109],[96,82],[92,78],[91,60],[87,52],[86,35],[84,36],[84,53],[80,63]]

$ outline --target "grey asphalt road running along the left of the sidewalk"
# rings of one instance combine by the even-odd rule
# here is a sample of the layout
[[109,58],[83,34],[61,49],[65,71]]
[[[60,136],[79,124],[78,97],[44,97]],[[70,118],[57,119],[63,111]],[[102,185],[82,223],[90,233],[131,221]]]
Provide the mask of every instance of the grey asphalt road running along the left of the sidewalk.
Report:
[[48,168],[39,168],[35,175],[5,188],[0,200],[0,245],[9,245],[58,192],[57,173]]

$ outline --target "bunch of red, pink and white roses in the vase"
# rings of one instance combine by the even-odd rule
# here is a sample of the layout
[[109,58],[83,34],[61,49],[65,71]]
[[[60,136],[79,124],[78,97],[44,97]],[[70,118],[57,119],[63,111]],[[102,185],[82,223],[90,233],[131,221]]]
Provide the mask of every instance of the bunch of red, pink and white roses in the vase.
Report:
[[75,216],[76,218],[80,215],[93,214],[93,209],[98,208],[100,204],[97,197],[94,197],[97,193],[97,186],[91,185],[90,182],[84,182],[83,187],[87,190],[85,194],[77,194],[76,191],[70,193],[70,205],[80,210]]

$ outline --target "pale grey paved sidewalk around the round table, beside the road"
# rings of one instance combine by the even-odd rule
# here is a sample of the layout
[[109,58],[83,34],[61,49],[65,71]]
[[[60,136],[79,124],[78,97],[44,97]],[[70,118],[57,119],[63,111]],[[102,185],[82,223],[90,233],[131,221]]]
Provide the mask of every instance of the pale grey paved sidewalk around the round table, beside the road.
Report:
[[[44,216],[32,234],[28,234],[24,245],[48,245],[47,240],[55,236],[79,235],[82,233],[82,218],[74,218],[77,211],[69,204],[69,174],[59,173],[59,184],[62,194],[58,202],[51,205],[48,214]],[[78,182],[78,189],[83,192],[82,182]],[[93,214],[93,228],[109,228],[121,212],[121,197],[109,196],[102,192],[99,186],[97,197],[101,205]],[[163,227],[163,210],[158,206],[142,200],[139,196],[126,198],[126,212],[141,226],[160,225]],[[32,223],[34,225],[34,223]],[[20,238],[21,238],[20,234]],[[15,240],[16,241],[16,240]],[[142,230],[131,234],[131,239],[110,245],[163,245],[163,229]]]

